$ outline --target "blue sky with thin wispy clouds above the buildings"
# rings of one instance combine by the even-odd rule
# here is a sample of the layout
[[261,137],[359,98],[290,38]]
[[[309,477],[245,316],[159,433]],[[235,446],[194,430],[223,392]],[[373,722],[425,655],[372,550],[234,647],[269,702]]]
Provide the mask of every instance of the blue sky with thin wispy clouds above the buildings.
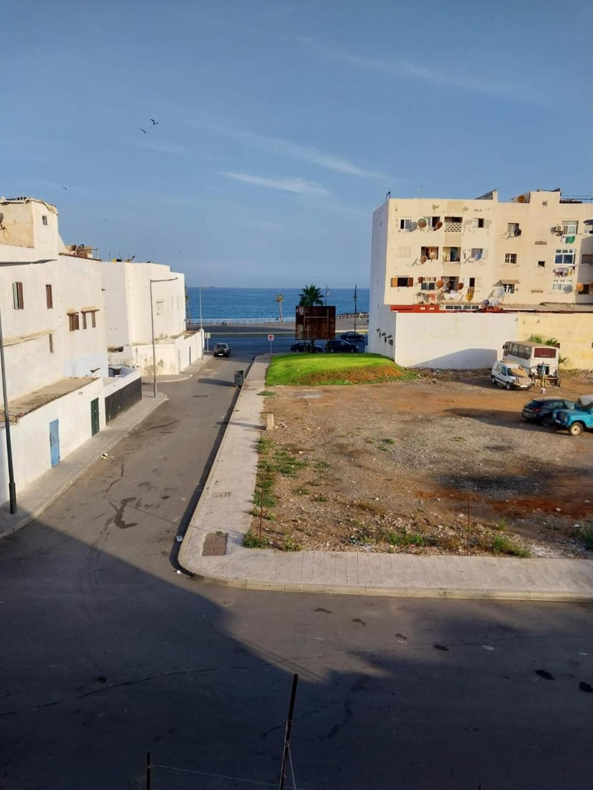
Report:
[[587,0],[5,0],[0,193],[190,285],[367,284],[387,190],[593,192],[592,17]]

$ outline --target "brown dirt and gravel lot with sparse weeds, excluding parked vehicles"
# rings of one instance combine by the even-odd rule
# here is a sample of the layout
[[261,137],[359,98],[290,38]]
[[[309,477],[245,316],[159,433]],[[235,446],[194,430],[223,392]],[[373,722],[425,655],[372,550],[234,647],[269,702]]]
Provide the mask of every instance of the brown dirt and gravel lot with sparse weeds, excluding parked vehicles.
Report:
[[[591,382],[567,378],[546,394],[588,392]],[[593,559],[583,541],[593,524],[593,433],[524,422],[521,408],[539,391],[424,374],[274,393],[266,410],[277,427],[260,455],[274,481],[266,502],[275,504],[264,508],[271,545],[465,554],[469,503],[471,554]]]

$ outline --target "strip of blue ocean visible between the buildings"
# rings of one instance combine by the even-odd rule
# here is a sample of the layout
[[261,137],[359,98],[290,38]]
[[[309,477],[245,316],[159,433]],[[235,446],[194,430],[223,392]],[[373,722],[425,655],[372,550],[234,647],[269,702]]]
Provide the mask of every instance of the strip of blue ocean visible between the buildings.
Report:
[[[263,321],[278,318],[278,303],[274,296],[284,295],[282,314],[285,321],[293,321],[302,288],[202,288],[202,321],[225,318],[251,318]],[[322,288],[323,292],[323,288]],[[200,289],[187,287],[191,319],[200,317]],[[325,297],[324,297],[325,298]],[[327,304],[334,305],[336,314],[354,312],[354,288],[330,288]],[[368,312],[368,288],[357,288],[357,312]]]

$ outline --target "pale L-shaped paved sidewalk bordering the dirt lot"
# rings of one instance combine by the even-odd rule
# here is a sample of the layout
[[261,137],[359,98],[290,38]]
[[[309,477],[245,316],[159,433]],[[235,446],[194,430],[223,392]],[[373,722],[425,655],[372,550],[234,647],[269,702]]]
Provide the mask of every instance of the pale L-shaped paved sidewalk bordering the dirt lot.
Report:
[[[364,551],[248,549],[263,397],[270,355],[256,357],[179,551],[192,576],[250,589],[353,595],[593,600],[593,562],[417,556]],[[223,556],[204,557],[208,532],[227,532]]]

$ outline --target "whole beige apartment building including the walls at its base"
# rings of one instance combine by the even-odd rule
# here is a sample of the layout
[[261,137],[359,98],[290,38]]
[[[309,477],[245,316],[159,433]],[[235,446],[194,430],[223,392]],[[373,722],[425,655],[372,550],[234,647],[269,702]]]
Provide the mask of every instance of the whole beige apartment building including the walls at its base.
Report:
[[576,319],[593,317],[593,205],[560,190],[389,198],[373,214],[369,302],[369,351],[402,364],[486,367],[523,325],[513,311],[537,313],[537,331],[557,337],[557,315],[579,310],[562,319],[572,342]]

